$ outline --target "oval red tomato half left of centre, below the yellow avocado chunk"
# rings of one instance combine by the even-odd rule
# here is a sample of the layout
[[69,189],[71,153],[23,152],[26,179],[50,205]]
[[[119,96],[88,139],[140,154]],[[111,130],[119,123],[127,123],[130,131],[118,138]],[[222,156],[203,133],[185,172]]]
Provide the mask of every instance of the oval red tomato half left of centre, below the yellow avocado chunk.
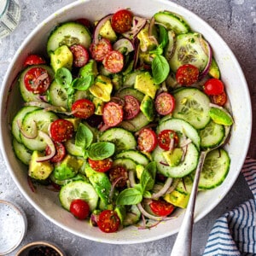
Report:
[[79,119],[87,119],[95,112],[95,106],[88,99],[80,99],[73,103],[73,115]]

